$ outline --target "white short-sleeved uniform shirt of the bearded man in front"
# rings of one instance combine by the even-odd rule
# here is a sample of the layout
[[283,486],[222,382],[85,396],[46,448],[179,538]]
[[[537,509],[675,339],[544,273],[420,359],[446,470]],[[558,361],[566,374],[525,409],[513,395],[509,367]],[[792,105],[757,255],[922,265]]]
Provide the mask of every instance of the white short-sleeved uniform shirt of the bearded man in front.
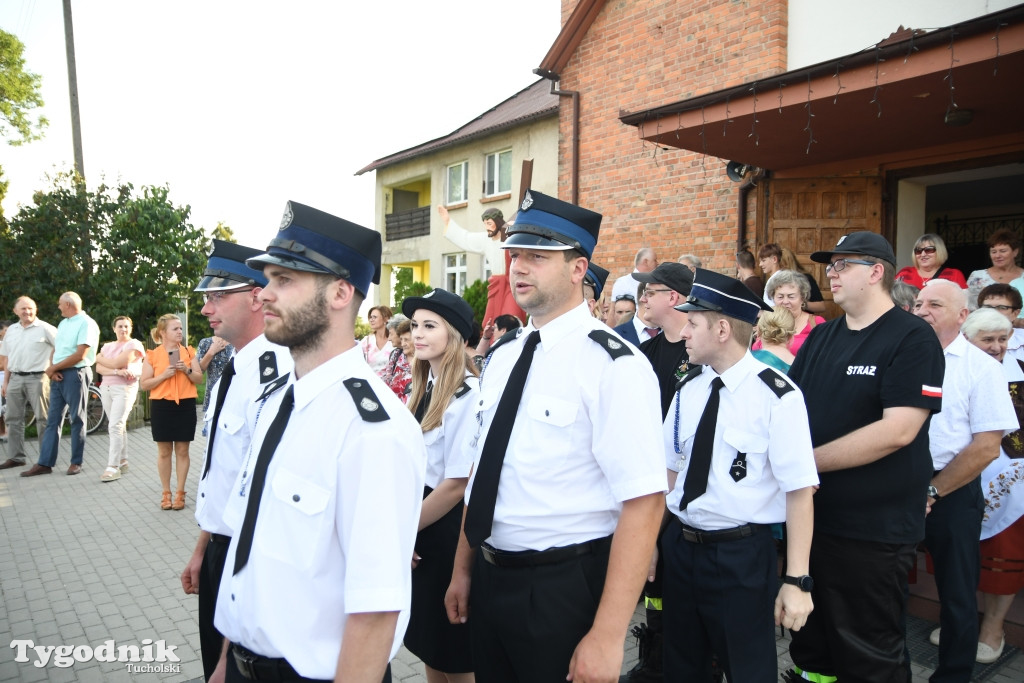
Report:
[[[377,400],[353,398],[354,379]],[[364,383],[366,383],[364,385]],[[354,382],[353,382],[354,384]],[[231,642],[333,679],[348,614],[397,611],[391,656],[409,624],[410,561],[426,454],[416,419],[353,347],[294,382],[295,408],[267,469],[249,561],[233,574],[232,533],[214,621]],[[264,411],[276,415],[280,397]],[[367,422],[365,411],[384,411]],[[224,519],[245,518],[249,479],[272,417],[260,419]]]

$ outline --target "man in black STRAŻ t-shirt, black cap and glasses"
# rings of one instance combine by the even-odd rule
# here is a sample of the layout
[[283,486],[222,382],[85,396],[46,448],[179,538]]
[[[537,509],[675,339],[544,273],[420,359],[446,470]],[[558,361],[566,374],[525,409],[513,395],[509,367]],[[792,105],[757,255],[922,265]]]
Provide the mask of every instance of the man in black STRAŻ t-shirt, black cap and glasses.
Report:
[[804,392],[821,487],[814,497],[814,612],[793,634],[802,671],[844,683],[907,681],[904,590],[925,536],[931,414],[945,362],[935,334],[896,308],[895,256],[853,232],[827,263],[846,314],[815,328],[790,370]]

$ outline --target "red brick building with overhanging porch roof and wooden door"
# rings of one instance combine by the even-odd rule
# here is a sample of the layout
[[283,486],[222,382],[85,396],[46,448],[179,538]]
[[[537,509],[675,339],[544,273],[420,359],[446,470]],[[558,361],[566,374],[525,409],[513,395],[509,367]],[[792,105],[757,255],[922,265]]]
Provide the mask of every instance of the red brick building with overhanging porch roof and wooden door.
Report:
[[806,256],[854,229],[901,265],[938,231],[969,271],[990,265],[987,233],[1024,225],[1024,7],[929,32],[885,19],[878,46],[787,71],[792,12],[820,11],[800,4],[562,0],[537,70],[563,94],[559,196],[604,214],[612,275],[643,245],[730,271],[738,245],[778,242],[823,283]]

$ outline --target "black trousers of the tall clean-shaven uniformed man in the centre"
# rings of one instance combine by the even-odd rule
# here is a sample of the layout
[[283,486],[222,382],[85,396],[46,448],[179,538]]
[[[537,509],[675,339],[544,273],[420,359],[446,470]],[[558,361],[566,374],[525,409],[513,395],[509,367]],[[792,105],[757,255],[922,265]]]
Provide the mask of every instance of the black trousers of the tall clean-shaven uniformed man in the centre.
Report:
[[564,683],[604,590],[607,547],[564,562],[497,567],[477,551],[469,596],[477,683]]

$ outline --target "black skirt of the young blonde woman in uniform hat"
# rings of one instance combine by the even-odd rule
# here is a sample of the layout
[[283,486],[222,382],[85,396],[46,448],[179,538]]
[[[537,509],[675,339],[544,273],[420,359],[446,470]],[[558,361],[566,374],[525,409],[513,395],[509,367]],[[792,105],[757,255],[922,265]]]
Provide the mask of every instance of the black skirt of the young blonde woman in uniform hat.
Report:
[[[425,486],[423,498],[433,490]],[[416,537],[423,558],[413,569],[413,608],[406,631],[406,647],[431,669],[446,674],[473,671],[469,630],[454,625],[444,610],[444,594],[452,583],[455,550],[462,529],[462,502]]]

